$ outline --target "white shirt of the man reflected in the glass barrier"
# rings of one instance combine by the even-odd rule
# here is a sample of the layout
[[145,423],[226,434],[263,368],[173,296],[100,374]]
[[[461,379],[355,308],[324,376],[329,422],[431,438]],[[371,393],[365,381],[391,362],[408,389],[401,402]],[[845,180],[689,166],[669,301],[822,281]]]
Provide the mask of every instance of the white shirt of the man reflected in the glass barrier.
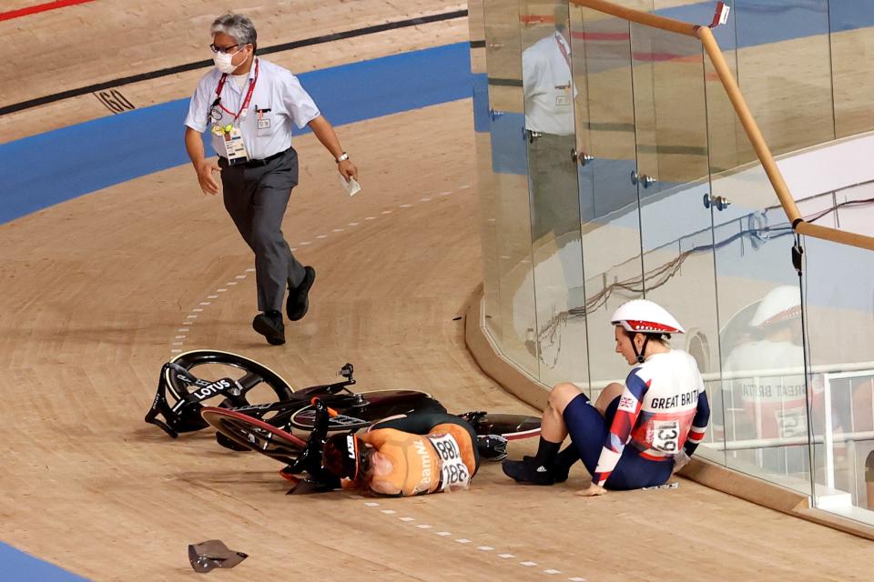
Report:
[[554,135],[574,133],[576,90],[572,95],[570,55],[571,47],[558,32],[523,51],[525,129]]

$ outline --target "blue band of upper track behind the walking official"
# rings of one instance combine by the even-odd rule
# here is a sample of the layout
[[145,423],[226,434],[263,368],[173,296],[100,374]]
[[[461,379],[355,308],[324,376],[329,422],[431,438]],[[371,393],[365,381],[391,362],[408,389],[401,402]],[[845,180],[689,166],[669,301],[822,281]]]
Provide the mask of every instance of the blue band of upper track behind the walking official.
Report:
[[[330,122],[343,125],[470,98],[470,70],[468,44],[458,43],[313,71],[300,81]],[[188,99],[180,99],[0,146],[0,224],[187,163],[187,113]]]

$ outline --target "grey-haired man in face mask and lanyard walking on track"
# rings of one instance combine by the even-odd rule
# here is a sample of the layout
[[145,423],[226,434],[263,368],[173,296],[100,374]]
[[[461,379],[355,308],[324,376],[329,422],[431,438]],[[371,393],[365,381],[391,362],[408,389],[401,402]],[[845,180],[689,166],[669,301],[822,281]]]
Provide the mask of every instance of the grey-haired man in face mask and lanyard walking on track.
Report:
[[[213,172],[221,172],[225,208],[255,253],[261,313],[252,327],[270,344],[284,344],[285,289],[286,315],[297,321],[307,313],[316,276],[291,254],[281,230],[291,189],[298,184],[291,124],[310,126],[344,178],[357,178],[358,169],[297,77],[255,55],[257,34],[248,17],[219,16],[210,33],[216,68],[204,75],[191,99],[185,146],[205,194],[219,193]],[[201,134],[206,131],[218,164],[205,157]]]

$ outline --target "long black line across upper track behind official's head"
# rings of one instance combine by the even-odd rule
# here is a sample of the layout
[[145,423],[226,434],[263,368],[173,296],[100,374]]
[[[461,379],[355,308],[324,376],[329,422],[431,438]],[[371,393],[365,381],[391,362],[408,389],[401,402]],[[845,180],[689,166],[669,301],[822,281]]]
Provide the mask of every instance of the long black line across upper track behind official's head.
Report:
[[[323,43],[331,43],[338,40],[344,40],[346,38],[352,38],[354,36],[364,36],[364,35],[373,35],[376,33],[385,32],[387,30],[395,30],[397,28],[406,28],[408,26],[418,26],[418,25],[427,25],[432,22],[441,22],[443,20],[453,20],[455,18],[463,18],[467,16],[467,10],[455,10],[453,12],[444,12],[439,15],[430,15],[430,16],[419,16],[416,18],[408,18],[407,20],[399,20],[397,22],[389,22],[384,25],[373,25],[373,26],[365,26],[364,28],[356,28],[355,30],[347,30],[342,33],[333,33],[331,35],[321,35],[321,36],[313,36],[311,38],[304,38],[302,40],[296,40],[290,43],[283,43],[282,45],[273,45],[267,46],[265,48],[259,48],[259,55],[269,55],[271,53],[280,53],[283,51],[288,51],[295,48],[301,48],[303,46],[312,46],[312,45],[321,45]],[[186,65],[177,65],[170,66],[166,69],[159,69],[158,71],[152,71],[150,73],[140,73],[139,75],[131,75],[122,77],[120,79],[116,79],[114,81],[106,81],[104,83],[97,83],[96,85],[88,85],[86,87],[81,87],[78,89],[70,89],[68,91],[62,91],[60,93],[56,93],[54,95],[46,95],[44,97],[37,97],[36,99],[29,99],[27,101],[22,101],[21,103],[15,103],[13,105],[5,105],[4,107],[0,107],[0,115],[6,115],[10,113],[15,113],[16,111],[22,111],[24,109],[30,109],[31,107],[36,107],[38,105],[46,105],[49,103],[55,103],[56,101],[63,101],[64,99],[69,99],[70,97],[77,97],[79,95],[87,95],[88,93],[95,93],[97,91],[104,91],[106,89],[111,89],[113,87],[121,86],[121,85],[130,85],[131,83],[138,83],[140,81],[147,81],[149,79],[157,79],[162,76],[168,75],[176,75],[178,73],[185,73],[187,71],[193,71],[199,68],[205,68],[207,66],[212,66],[212,59],[205,61],[197,61],[195,63],[188,63]]]

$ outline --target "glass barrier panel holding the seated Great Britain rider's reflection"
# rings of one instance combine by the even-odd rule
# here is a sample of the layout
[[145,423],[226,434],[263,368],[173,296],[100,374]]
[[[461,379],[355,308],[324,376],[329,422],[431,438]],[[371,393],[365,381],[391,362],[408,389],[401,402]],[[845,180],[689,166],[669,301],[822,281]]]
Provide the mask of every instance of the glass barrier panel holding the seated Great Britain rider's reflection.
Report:
[[[727,466],[810,495],[807,391],[791,226],[760,165],[714,174]],[[714,444],[713,447],[718,447]]]

